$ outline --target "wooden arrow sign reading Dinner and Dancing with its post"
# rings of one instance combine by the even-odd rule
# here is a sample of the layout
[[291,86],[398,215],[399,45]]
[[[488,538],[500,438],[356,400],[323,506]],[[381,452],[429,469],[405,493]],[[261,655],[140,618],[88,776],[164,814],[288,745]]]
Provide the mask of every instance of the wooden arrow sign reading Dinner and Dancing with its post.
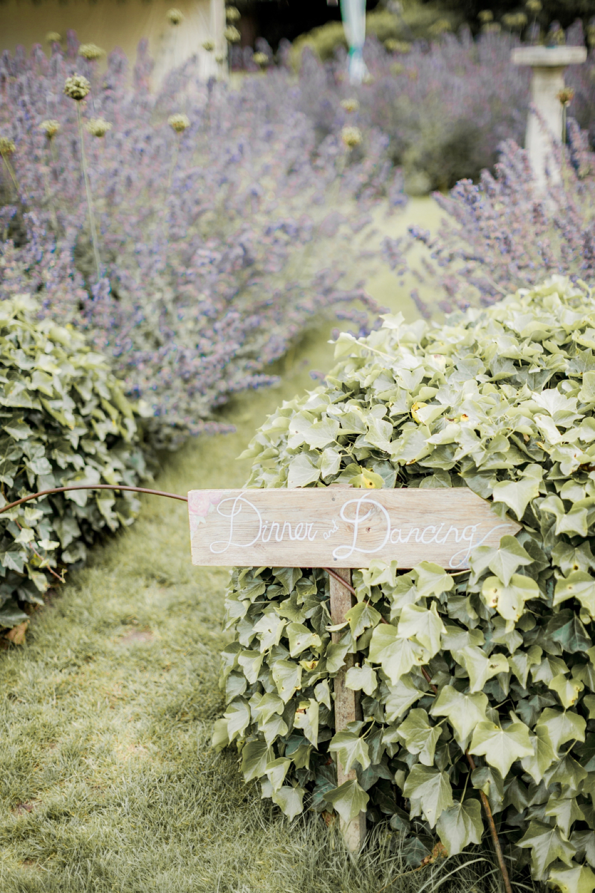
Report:
[[[403,569],[431,561],[461,571],[472,549],[499,546],[501,537],[521,529],[467,487],[191,490],[188,514],[193,564],[330,569],[334,624],[352,605],[351,568],[367,568],[376,558]],[[332,635],[335,641],[340,634]],[[345,687],[354,659],[346,655],[335,676],[336,731],[358,719],[356,692]],[[353,778],[354,770],[345,773],[337,763],[338,785]],[[341,827],[348,847],[359,851],[366,814]]]

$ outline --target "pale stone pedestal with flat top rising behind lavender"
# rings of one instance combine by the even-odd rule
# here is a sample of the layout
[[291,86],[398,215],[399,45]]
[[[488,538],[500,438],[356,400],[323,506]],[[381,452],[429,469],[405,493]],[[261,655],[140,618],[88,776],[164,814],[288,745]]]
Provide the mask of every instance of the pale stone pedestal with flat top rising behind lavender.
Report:
[[558,93],[564,87],[564,72],[568,65],[581,64],[586,58],[584,46],[519,46],[512,51],[513,63],[531,65],[533,69],[531,102],[541,121],[537,114],[529,112],[525,149],[541,187],[546,184],[546,169],[553,179],[559,177],[551,141],[562,140],[562,104]]

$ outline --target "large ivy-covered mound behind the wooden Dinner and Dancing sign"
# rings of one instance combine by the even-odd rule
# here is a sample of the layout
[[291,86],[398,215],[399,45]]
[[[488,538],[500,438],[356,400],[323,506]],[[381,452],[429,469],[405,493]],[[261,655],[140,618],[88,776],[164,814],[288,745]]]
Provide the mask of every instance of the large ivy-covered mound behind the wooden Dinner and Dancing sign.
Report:
[[[385,316],[252,440],[252,488],[467,486],[523,528],[461,574],[353,572],[334,644],[325,572],[236,569],[213,743],[286,814],[367,805],[416,864],[434,830],[450,855],[479,842],[481,789],[516,869],[595,886],[594,347],[595,296],[561,277],[441,327]],[[348,652],[363,721],[335,735]],[[337,755],[358,776],[339,789]]]

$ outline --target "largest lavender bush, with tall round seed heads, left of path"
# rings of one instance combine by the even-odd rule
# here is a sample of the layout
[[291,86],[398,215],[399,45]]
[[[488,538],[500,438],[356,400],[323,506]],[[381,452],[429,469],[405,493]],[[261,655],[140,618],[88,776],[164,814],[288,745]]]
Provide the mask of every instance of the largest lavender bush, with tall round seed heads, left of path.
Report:
[[[316,314],[356,297],[376,311],[340,281],[343,241],[365,218],[329,219],[326,204],[355,198],[365,212],[398,201],[399,182],[374,129],[357,150],[338,127],[320,141],[286,71],[234,91],[201,83],[191,62],[153,94],[145,45],[131,87],[122,54],[101,73],[78,46],[70,33],[49,61],[39,46],[0,60],[0,136],[14,146],[0,172],[0,297],[34,292],[45,315],[86,330],[157,445],[175,446],[215,427],[229,394],[267,383],[266,364]],[[75,71],[90,82],[79,104],[62,92]]]

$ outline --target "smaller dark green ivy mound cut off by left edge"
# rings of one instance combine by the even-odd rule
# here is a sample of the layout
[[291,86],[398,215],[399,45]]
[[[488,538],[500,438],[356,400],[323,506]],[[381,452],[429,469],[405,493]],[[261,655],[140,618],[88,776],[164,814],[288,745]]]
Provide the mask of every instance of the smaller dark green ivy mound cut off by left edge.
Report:
[[[132,407],[103,356],[74,330],[37,321],[37,304],[0,304],[0,506],[75,483],[134,485],[145,474]],[[98,531],[136,517],[134,497],[57,494],[0,515],[0,627],[43,604],[64,564],[82,561]]]

